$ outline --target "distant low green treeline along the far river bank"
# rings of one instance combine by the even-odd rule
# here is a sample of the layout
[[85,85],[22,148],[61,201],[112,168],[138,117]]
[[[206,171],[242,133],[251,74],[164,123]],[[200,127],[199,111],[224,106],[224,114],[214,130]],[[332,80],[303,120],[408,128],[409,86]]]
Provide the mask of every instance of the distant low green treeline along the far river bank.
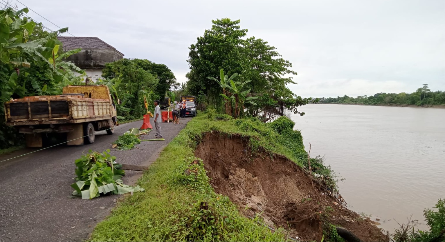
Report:
[[343,97],[327,98],[324,103],[351,103],[363,105],[445,105],[445,91],[431,91],[428,84],[413,93],[385,93],[380,92],[372,96],[358,96],[356,98]]

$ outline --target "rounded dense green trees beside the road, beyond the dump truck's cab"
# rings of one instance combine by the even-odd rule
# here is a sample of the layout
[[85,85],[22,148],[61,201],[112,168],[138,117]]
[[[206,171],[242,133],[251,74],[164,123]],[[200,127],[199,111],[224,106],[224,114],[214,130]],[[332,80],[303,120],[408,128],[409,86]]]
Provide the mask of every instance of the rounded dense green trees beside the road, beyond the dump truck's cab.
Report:
[[[105,80],[98,83],[110,87],[117,105],[117,115],[129,120],[146,114],[144,96],[163,100],[170,89],[177,87],[173,72],[164,64],[149,60],[121,59],[106,63],[102,70]],[[151,94],[153,93],[153,94]],[[120,102],[117,102],[117,101]],[[148,103],[153,110],[153,103]]]

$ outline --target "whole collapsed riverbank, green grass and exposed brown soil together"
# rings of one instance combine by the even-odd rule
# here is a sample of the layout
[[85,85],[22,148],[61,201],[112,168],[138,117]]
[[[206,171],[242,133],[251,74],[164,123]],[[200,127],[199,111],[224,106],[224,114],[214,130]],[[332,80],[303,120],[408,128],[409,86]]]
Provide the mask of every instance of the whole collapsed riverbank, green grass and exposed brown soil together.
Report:
[[[368,218],[342,206],[335,175],[310,159],[285,117],[202,114],[161,152],[91,241],[388,241]],[[261,215],[259,215],[261,214]]]

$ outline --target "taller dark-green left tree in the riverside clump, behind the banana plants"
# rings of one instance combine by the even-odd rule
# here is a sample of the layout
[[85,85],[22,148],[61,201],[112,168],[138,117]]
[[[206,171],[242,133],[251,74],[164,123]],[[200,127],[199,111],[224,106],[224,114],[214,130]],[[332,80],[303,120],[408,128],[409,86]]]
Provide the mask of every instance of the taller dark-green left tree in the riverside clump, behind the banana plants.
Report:
[[[247,68],[247,56],[243,52],[247,29],[241,29],[240,20],[212,20],[212,28],[190,45],[190,72],[186,74],[188,91],[194,95],[206,96],[206,101],[214,105],[222,104],[218,83],[207,79],[218,76],[224,69],[227,75],[242,74]],[[242,75],[239,77],[242,79]]]

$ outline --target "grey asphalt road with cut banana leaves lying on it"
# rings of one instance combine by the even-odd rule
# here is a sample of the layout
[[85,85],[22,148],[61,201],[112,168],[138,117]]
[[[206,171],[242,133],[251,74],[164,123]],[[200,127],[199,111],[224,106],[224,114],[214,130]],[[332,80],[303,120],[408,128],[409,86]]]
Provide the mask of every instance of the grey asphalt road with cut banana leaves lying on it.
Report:
[[[139,149],[112,150],[111,154],[117,157],[118,163],[148,166],[190,119],[181,119],[179,125],[163,123],[165,141],[142,142],[137,145]],[[111,149],[119,135],[141,126],[142,120],[122,124],[115,128],[113,135],[106,135],[105,131],[96,133],[96,140],[90,145],[60,145],[1,162],[0,242],[82,241],[88,238],[120,196],[101,196],[92,200],[69,198],[73,191],[70,185],[76,176],[74,160],[90,149],[101,152]],[[155,133],[151,131],[142,138],[150,139]],[[1,155],[0,161],[36,150],[39,149],[27,148]],[[141,175],[141,171],[125,171],[123,181],[131,185]]]

